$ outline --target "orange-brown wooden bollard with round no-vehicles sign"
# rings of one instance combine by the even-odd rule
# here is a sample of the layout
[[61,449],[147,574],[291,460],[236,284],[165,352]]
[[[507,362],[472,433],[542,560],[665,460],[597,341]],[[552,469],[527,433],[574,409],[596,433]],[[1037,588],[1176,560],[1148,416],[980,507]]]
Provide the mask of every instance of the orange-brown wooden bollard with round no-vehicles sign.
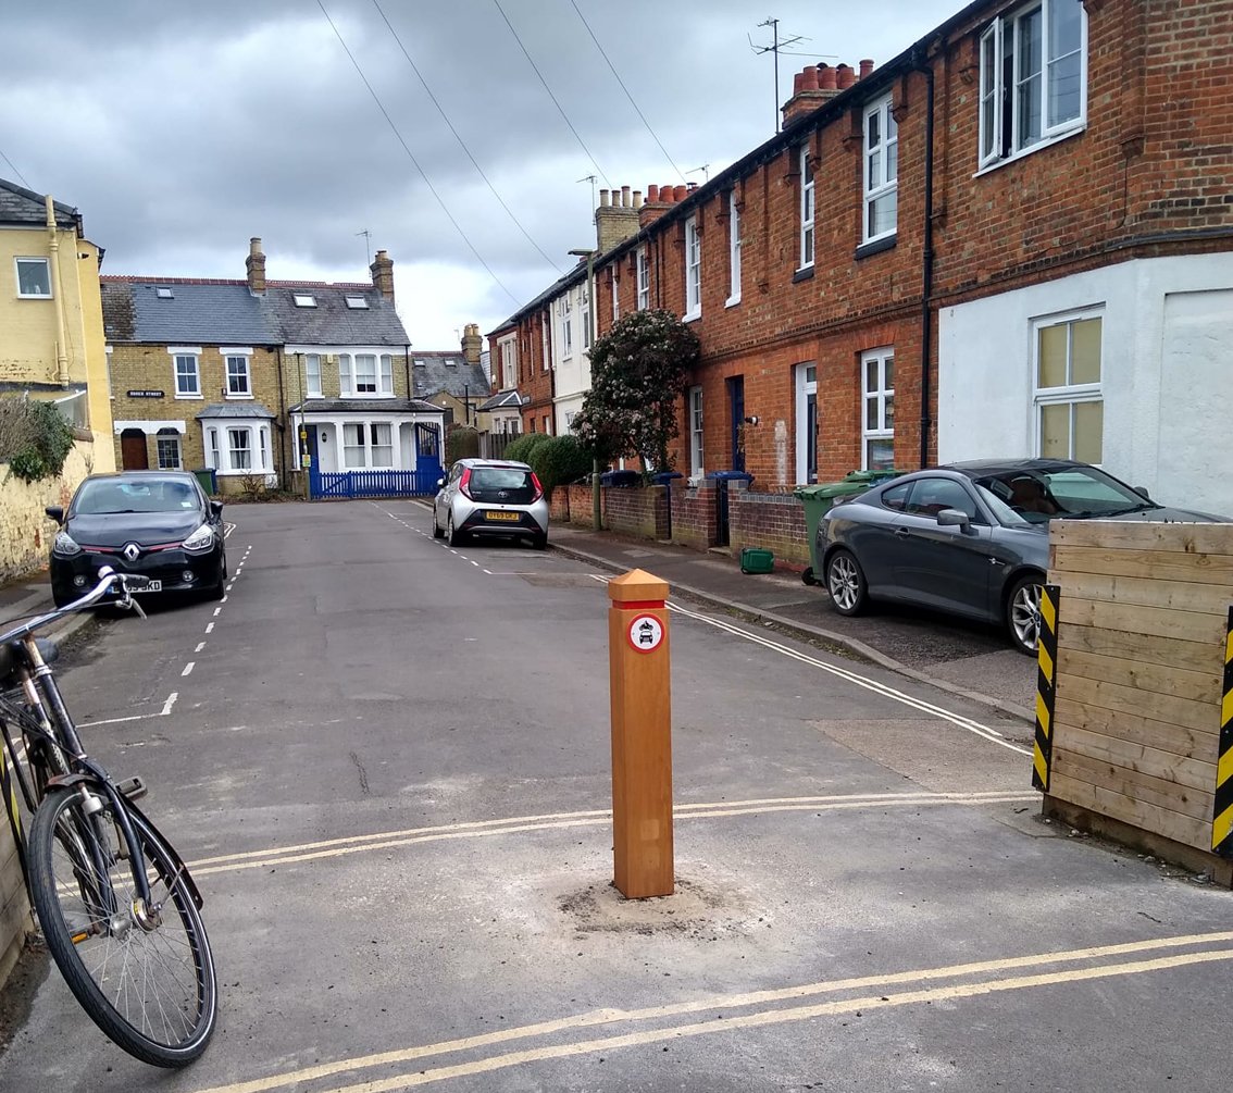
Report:
[[667,595],[640,569],[608,582],[613,866],[626,899],[671,896],[676,882]]

